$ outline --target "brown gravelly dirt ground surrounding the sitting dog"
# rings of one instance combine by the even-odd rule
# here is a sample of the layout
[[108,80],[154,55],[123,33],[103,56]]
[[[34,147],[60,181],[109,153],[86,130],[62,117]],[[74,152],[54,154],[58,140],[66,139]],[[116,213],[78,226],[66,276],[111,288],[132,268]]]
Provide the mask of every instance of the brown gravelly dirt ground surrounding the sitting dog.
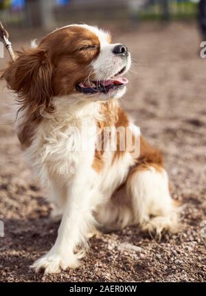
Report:
[[[15,49],[32,38],[36,35],[14,42]],[[58,223],[49,220],[46,193],[25,164],[14,126],[2,125],[12,121],[6,114],[14,98],[1,83],[0,220],[5,224],[5,236],[0,237],[1,282],[206,279],[206,229],[204,235],[201,224],[206,220],[206,59],[198,55],[198,30],[196,25],[176,23],[165,28],[144,25],[133,32],[118,31],[115,39],[128,45],[134,61],[122,104],[149,142],[165,154],[172,195],[184,204],[182,230],[163,234],[160,242],[138,226],[101,234],[90,240],[79,269],[35,274],[29,266],[54,244]]]

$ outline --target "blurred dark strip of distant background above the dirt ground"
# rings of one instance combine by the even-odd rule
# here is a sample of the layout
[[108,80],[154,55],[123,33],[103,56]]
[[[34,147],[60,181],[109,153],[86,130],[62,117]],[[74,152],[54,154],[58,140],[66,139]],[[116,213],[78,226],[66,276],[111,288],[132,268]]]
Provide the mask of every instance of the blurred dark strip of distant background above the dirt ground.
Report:
[[196,19],[198,0],[0,0],[4,23],[50,28],[65,22],[104,23]]

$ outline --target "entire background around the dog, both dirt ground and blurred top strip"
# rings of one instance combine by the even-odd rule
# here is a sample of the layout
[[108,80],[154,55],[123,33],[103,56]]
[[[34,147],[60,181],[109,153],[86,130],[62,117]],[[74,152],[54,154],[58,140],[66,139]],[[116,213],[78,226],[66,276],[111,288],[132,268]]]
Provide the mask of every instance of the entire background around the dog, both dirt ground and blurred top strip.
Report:
[[[133,227],[93,238],[84,266],[42,277],[27,266],[55,240],[47,195],[25,164],[14,131],[14,95],[0,81],[1,281],[206,281],[206,0],[0,0],[0,20],[14,50],[70,23],[110,30],[132,54],[121,103],[144,137],[165,155],[172,197],[183,202],[183,230],[161,243]],[[37,41],[38,42],[38,41]],[[0,44],[1,45],[1,44]],[[0,70],[10,61],[0,58]],[[142,253],[118,249],[123,242]],[[158,257],[157,257],[158,256]],[[177,262],[177,263],[175,263]],[[110,266],[110,268],[108,268]]]

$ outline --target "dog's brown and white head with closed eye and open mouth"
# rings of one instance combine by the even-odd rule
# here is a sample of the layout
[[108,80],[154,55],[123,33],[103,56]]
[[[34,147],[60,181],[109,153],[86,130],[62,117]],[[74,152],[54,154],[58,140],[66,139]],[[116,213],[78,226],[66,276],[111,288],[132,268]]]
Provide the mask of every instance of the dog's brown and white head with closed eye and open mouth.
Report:
[[128,83],[122,76],[129,68],[126,45],[111,43],[110,34],[98,28],[69,25],[21,52],[3,78],[22,102],[30,100],[31,109],[49,110],[59,96],[87,101],[121,97]]

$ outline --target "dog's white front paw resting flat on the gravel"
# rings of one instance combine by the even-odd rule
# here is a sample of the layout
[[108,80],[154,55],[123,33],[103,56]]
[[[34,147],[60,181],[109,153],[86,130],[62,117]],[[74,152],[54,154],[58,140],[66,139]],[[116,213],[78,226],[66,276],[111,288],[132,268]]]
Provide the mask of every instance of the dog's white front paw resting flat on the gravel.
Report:
[[40,259],[36,260],[31,268],[34,268],[36,273],[38,271],[44,271],[45,274],[48,273],[60,273],[61,269],[65,271],[67,268],[78,268],[80,266],[80,261],[78,257],[74,254],[67,256],[62,256],[58,253],[47,253]]

